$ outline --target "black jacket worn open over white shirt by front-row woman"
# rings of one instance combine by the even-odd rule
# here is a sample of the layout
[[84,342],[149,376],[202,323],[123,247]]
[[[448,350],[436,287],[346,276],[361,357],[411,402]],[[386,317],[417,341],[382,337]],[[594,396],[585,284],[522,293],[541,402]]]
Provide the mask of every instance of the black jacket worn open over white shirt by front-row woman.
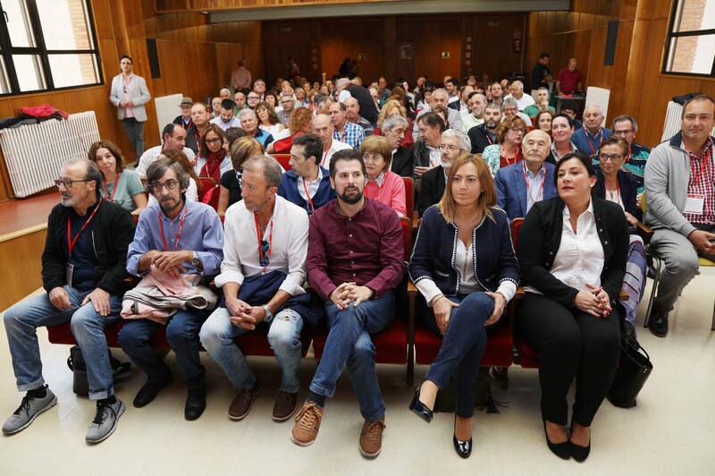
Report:
[[[626,275],[628,222],[618,204],[598,198],[592,202],[596,230],[603,246],[601,286],[611,302],[617,303]],[[565,206],[559,197],[534,203],[519,228],[516,241],[522,285],[532,285],[544,296],[570,307],[578,290],[551,275],[561,243]]]

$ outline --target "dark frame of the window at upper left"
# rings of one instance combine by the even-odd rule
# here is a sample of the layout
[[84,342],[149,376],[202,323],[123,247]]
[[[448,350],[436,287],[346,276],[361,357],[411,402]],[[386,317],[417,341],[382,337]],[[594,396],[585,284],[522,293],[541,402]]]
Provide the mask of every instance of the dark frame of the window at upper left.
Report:
[[[102,72],[102,61],[99,56],[99,46],[97,43],[97,29],[92,12],[91,0],[82,0],[87,13],[87,33],[93,48],[82,49],[47,49],[45,44],[45,33],[42,30],[42,22],[39,18],[38,4],[35,0],[22,0],[27,5],[29,28],[35,39],[35,47],[13,47],[9,30],[7,29],[5,13],[0,12],[0,58],[4,63],[4,74],[7,77],[8,92],[0,92],[0,98],[11,96],[23,96],[28,94],[38,94],[51,91],[63,91],[68,89],[88,88],[92,86],[102,86],[105,84],[104,73]],[[42,89],[32,89],[22,91],[18,81],[17,70],[13,61],[13,55],[36,55],[44,76],[45,87]],[[55,80],[50,66],[50,55],[92,55],[97,71],[97,82],[85,83],[76,86],[55,87]],[[0,73],[2,74],[2,73]],[[0,79],[0,81],[3,81]],[[1,89],[0,89],[1,90]]]

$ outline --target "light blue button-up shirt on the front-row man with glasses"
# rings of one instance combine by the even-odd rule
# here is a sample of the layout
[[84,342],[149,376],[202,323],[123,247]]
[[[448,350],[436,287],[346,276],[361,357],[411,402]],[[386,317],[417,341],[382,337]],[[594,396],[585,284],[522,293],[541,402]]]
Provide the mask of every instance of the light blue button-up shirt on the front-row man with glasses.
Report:
[[[223,259],[223,225],[216,214],[214,208],[206,203],[197,201],[187,201],[184,208],[188,208],[184,225],[181,228],[181,238],[177,251],[190,250],[197,251],[198,259],[201,260],[202,269],[191,266],[190,261],[181,263],[188,275],[213,276],[219,272],[221,260]],[[134,241],[129,245],[127,252],[127,271],[134,276],[139,276],[139,259],[147,251],[174,251],[176,237],[179,234],[181,216],[184,213],[181,209],[179,215],[170,220],[164,215],[164,211],[159,211],[158,205],[144,208],[139,215],[137,231],[134,233]],[[166,240],[167,250],[164,250],[164,240],[162,240],[162,230],[159,220],[164,226],[164,240]]]

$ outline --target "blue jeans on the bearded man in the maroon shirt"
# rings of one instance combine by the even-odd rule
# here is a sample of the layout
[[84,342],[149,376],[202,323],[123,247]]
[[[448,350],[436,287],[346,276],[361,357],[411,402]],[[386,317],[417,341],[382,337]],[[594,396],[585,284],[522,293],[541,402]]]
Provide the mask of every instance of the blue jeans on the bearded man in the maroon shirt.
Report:
[[388,327],[395,316],[392,291],[380,299],[361,302],[339,310],[332,301],[325,302],[328,315],[328,338],[323,357],[315,370],[310,390],[332,397],[342,368],[348,365],[348,376],[366,421],[377,421],[385,412],[383,395],[374,370],[374,345],[370,334]]

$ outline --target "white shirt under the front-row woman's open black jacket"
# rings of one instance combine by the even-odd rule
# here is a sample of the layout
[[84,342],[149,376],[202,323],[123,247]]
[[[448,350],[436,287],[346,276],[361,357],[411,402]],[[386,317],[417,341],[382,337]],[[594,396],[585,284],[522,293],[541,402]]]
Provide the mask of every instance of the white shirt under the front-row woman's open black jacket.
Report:
[[601,285],[605,262],[601,239],[596,232],[593,202],[578,217],[576,233],[570,217],[568,207],[564,207],[561,243],[551,266],[551,275],[579,291],[586,291],[586,284]]

